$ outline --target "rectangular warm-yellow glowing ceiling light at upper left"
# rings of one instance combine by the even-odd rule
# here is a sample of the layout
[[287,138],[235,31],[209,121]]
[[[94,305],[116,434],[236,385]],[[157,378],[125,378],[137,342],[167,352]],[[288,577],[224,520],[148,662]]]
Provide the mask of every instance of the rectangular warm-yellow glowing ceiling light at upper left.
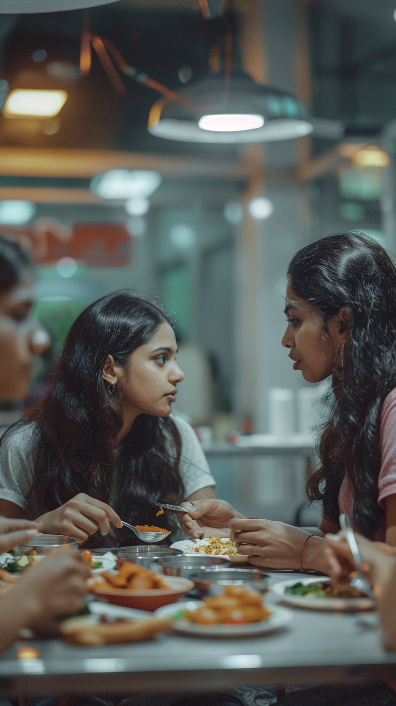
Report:
[[15,88],[3,108],[5,118],[53,118],[67,100],[65,90]]

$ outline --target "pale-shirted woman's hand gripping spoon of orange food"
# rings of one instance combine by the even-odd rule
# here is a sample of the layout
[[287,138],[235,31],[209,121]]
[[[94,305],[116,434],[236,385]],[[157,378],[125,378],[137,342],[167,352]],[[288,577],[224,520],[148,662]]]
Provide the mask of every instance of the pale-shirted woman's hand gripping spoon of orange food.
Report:
[[90,534],[99,530],[107,534],[110,522],[121,529],[122,522],[109,505],[91,498],[86,493],[78,493],[60,508],[37,517],[36,523],[43,534],[65,534],[81,542],[86,542]]

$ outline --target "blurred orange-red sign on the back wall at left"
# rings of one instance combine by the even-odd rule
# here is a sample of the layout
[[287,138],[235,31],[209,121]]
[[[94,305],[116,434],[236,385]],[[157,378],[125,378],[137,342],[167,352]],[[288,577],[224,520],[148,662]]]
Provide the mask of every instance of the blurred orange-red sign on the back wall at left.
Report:
[[54,265],[65,257],[94,267],[131,264],[132,239],[122,223],[76,223],[65,228],[53,218],[43,218],[33,227],[0,226],[0,233],[30,246],[37,265]]

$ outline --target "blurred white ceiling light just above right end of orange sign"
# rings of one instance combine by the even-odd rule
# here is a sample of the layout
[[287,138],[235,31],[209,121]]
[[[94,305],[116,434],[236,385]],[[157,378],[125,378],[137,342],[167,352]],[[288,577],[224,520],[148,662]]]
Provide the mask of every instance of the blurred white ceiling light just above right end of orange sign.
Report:
[[[90,189],[100,198],[117,198],[129,200],[137,196],[148,198],[161,184],[162,177],[158,172],[143,169],[110,169],[109,172],[98,174],[91,181]],[[133,214],[141,215],[141,214]]]

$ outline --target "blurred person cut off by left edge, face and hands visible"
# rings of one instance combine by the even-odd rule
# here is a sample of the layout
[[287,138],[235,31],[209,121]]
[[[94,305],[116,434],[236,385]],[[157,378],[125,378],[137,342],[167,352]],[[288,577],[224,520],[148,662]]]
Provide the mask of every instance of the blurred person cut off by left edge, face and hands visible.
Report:
[[[0,400],[23,400],[29,392],[35,356],[50,337],[32,317],[33,267],[18,243],[0,235]],[[2,469],[0,468],[0,473]],[[0,554],[39,532],[35,522],[0,517]],[[86,594],[89,567],[77,553],[64,552],[28,568],[0,595],[0,652],[21,628],[76,611]]]

